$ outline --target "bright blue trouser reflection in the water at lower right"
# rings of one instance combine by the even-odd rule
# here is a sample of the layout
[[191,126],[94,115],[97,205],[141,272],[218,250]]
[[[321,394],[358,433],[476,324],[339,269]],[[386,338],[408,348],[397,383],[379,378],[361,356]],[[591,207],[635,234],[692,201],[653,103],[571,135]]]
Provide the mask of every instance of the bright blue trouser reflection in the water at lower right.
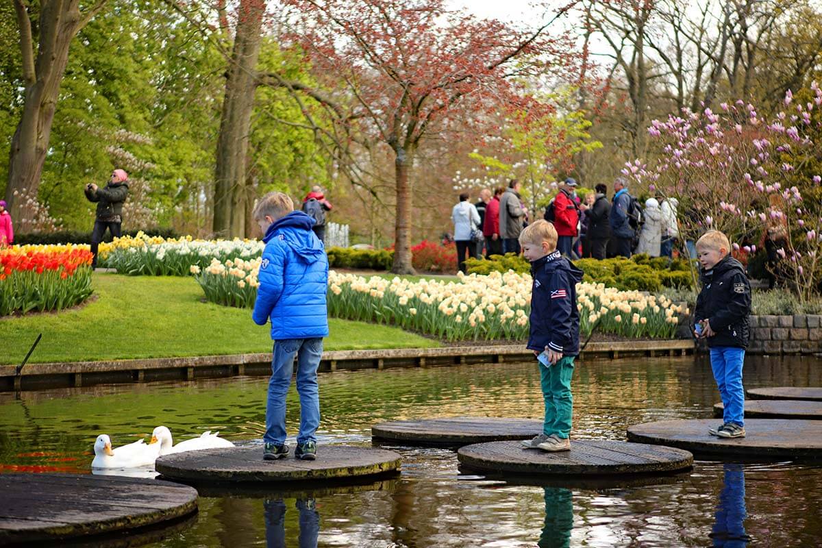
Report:
[[718,548],[741,548],[750,541],[745,532],[745,468],[729,463],[723,465],[723,471],[724,484],[709,536]]

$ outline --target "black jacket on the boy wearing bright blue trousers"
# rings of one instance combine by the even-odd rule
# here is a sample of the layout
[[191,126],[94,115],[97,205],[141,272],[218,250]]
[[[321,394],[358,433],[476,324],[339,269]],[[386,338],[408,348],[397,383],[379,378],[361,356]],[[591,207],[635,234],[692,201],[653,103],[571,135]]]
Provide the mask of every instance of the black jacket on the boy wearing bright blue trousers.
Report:
[[748,346],[750,338],[750,283],[742,264],[726,256],[700,276],[702,291],[696,298],[694,320],[708,320],[715,335],[708,346]]

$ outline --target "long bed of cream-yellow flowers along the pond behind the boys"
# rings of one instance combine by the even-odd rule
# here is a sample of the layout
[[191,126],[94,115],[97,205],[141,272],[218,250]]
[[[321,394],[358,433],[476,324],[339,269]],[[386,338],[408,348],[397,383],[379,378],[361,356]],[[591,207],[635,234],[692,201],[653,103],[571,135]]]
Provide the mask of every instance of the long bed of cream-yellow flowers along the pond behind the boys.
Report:
[[[213,260],[191,271],[210,302],[254,306],[260,260]],[[532,279],[529,274],[494,272],[487,276],[459,274],[459,282],[422,279],[365,279],[356,274],[329,273],[331,317],[396,325],[448,341],[524,340],[528,338]],[[666,297],[606,288],[602,283],[577,284],[580,334],[594,325],[603,333],[626,338],[672,338],[679,316],[688,310]]]

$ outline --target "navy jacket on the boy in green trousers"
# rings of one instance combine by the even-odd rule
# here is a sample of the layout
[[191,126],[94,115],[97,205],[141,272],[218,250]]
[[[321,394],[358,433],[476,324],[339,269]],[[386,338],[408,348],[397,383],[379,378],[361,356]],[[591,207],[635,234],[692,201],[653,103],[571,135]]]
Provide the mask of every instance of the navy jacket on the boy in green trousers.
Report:
[[580,313],[576,310],[576,283],[582,270],[554,251],[531,263],[531,315],[528,348],[545,347],[564,356],[580,353]]

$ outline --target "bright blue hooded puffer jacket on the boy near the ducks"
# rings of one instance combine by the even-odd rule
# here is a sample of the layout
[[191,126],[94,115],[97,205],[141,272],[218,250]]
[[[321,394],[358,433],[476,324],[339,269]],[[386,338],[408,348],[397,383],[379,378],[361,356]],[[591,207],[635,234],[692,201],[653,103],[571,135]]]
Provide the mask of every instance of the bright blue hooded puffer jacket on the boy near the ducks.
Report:
[[266,231],[260,287],[252,318],[266,325],[271,318],[271,338],[328,336],[328,257],[312,232],[314,219],[292,211]]

